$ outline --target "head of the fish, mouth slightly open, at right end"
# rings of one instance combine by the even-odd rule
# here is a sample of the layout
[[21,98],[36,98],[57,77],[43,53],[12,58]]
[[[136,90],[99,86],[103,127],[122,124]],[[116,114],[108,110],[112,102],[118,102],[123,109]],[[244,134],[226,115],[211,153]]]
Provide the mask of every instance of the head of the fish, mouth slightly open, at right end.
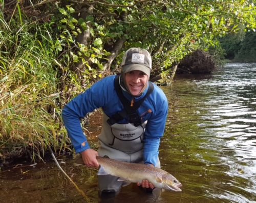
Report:
[[167,173],[162,176],[163,189],[181,192],[182,184],[173,175]]

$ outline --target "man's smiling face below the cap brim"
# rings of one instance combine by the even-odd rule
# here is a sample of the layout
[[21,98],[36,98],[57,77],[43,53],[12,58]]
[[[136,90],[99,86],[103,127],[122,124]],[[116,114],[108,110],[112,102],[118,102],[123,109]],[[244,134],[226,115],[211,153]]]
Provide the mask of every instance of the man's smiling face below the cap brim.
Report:
[[139,96],[147,83],[148,76],[142,71],[130,71],[125,73],[127,88],[133,96]]

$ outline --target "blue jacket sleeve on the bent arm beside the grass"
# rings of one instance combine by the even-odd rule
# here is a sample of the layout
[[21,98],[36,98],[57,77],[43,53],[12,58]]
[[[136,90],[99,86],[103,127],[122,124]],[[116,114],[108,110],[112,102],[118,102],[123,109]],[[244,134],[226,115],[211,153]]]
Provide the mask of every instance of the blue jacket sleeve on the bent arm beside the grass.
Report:
[[104,88],[105,82],[104,79],[96,82],[86,92],[72,99],[62,110],[62,120],[76,153],[90,148],[80,119],[94,109],[104,106],[108,97],[108,94],[104,94],[104,91],[107,92]]

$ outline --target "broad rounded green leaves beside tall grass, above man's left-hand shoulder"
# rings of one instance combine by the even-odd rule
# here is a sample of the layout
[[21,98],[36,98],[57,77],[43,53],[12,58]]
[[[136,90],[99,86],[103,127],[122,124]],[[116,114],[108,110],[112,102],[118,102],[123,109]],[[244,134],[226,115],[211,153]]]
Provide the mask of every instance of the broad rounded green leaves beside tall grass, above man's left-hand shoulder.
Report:
[[[100,61],[104,56],[108,56],[109,52],[103,49],[103,42],[101,37],[105,36],[103,33],[104,26],[98,25],[94,22],[94,17],[88,15],[86,19],[79,17],[76,19],[72,14],[75,9],[71,5],[66,5],[66,8],[59,8],[60,16],[60,49],[62,52],[69,52],[69,56],[72,57],[73,62],[82,62],[86,69],[83,69],[82,75],[84,78],[92,76],[96,78],[98,70],[103,69],[103,63]],[[89,26],[90,24],[90,26]],[[76,42],[79,34],[86,32],[89,29],[90,34],[94,37],[91,44],[84,44]],[[74,79],[74,78],[73,78]],[[75,80],[79,80],[76,78]],[[79,81],[78,81],[79,83]],[[90,85],[91,81],[87,80],[87,85]]]

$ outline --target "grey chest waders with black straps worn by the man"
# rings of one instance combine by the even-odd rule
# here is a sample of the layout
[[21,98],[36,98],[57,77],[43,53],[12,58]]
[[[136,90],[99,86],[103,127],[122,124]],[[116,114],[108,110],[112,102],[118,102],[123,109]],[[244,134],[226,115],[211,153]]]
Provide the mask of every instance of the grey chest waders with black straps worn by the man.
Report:
[[[141,163],[143,162],[143,134],[147,121],[141,122],[137,109],[146,97],[153,92],[154,86],[149,82],[146,95],[131,106],[130,101],[122,94],[119,77],[115,77],[114,85],[124,109],[111,118],[103,113],[102,130],[98,136],[100,142],[98,153],[99,156],[108,156],[114,160]],[[128,120],[129,123],[119,124],[118,122],[123,119]],[[160,168],[159,161],[156,167]],[[117,181],[117,179],[118,177],[112,175],[99,175],[99,194],[102,191],[118,192],[123,182]]]

